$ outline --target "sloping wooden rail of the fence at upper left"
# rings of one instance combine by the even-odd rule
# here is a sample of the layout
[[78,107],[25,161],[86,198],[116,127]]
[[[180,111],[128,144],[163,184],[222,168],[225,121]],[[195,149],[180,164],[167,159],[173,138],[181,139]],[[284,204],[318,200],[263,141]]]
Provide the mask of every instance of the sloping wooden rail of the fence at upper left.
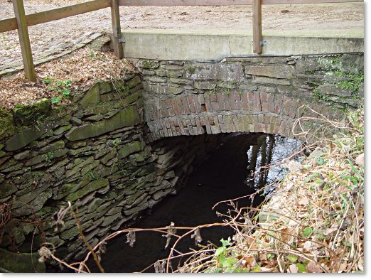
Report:
[[[27,26],[56,21],[57,19],[67,18],[68,16],[77,16],[90,11],[97,11],[111,6],[111,0],[94,0],[81,4],[65,6],[49,11],[26,15]],[[16,18],[6,18],[0,21],[0,32],[6,32],[17,29]]]

